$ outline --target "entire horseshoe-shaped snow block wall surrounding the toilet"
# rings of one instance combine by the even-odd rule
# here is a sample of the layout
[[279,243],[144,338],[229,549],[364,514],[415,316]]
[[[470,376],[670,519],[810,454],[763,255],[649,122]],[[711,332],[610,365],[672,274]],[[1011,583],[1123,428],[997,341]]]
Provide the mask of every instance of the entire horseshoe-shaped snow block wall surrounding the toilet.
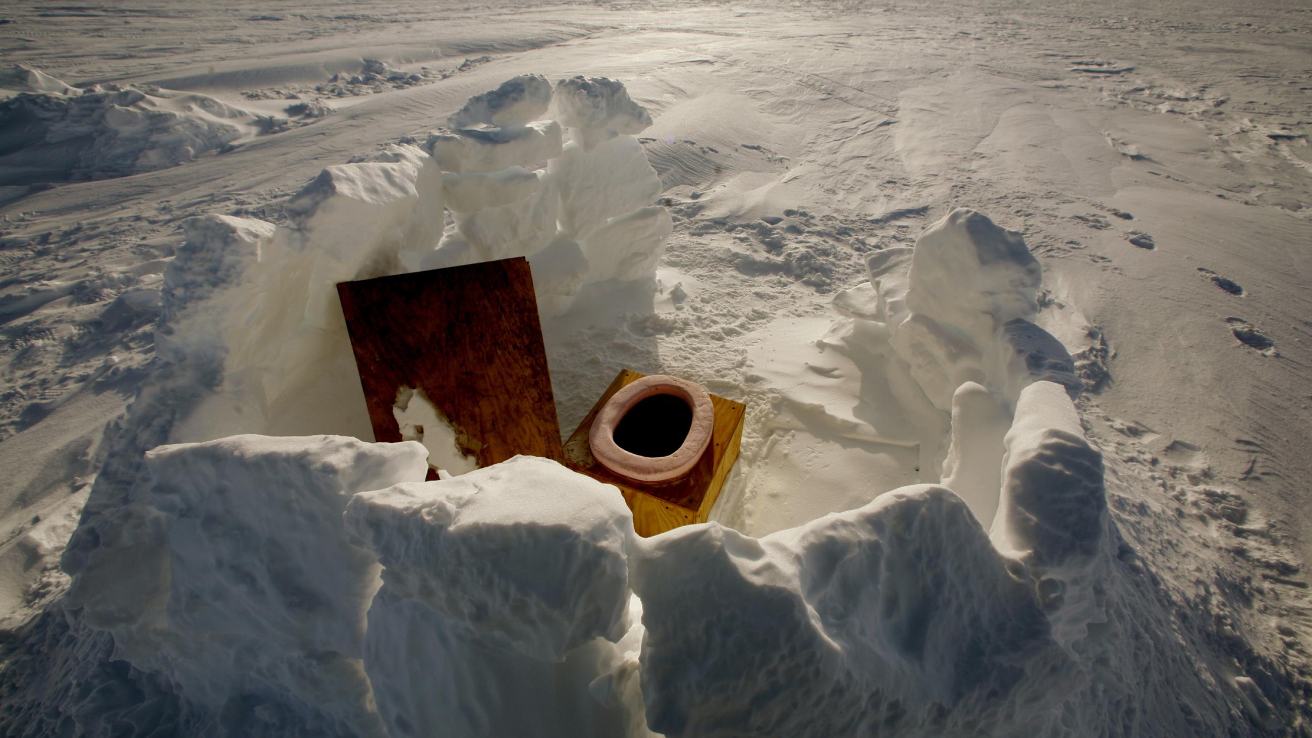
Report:
[[[974,210],[874,252],[838,301],[851,340],[951,418],[941,483],[760,538],[643,540],[613,487],[552,461],[424,482],[420,443],[346,437],[370,431],[333,284],[527,256],[551,315],[649,276],[670,232],[632,135],[649,122],[611,80],[516,77],[453,133],[324,169],[289,227],[184,225],[161,366],[63,558],[68,617],[154,708],[80,691],[73,658],[50,699],[77,733],[144,734],[161,710],[189,734],[392,738],[1225,722],[1202,682],[1165,692],[1197,668],[1158,642],[1069,356],[1030,323],[1039,265]],[[1126,725],[1127,700],[1170,709]]]

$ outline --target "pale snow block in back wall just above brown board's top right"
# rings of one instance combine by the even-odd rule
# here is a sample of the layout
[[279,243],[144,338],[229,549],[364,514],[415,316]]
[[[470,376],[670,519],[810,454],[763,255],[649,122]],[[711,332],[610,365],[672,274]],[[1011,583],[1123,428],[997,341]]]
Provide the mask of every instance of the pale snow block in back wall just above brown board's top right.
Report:
[[544,173],[534,172],[538,189],[523,200],[454,214],[455,227],[468,240],[478,260],[527,256],[551,243],[556,235],[560,198],[551,180],[543,177]]

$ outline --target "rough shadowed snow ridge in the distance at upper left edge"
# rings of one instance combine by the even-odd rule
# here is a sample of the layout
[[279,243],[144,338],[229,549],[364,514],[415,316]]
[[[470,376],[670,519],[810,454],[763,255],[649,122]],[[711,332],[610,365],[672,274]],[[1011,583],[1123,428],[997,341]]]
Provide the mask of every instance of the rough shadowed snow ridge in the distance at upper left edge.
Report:
[[35,70],[7,75],[33,92],[0,101],[0,185],[102,180],[176,167],[287,121],[152,85],[73,89]]

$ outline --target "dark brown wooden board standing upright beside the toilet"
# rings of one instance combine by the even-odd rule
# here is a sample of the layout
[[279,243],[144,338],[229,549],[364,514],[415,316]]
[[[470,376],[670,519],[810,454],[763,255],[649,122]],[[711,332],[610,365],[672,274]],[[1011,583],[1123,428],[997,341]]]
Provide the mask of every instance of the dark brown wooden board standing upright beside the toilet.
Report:
[[526,260],[341,282],[337,294],[374,440],[401,440],[392,406],[405,386],[424,390],[479,466],[563,460]]

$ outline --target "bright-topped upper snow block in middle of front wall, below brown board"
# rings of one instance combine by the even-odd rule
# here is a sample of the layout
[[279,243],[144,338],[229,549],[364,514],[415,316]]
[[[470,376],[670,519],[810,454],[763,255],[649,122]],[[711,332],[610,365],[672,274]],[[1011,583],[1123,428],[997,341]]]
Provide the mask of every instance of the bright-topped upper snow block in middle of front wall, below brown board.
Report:
[[632,515],[610,485],[517,456],[461,477],[363,492],[346,527],[384,590],[541,661],[627,629]]

